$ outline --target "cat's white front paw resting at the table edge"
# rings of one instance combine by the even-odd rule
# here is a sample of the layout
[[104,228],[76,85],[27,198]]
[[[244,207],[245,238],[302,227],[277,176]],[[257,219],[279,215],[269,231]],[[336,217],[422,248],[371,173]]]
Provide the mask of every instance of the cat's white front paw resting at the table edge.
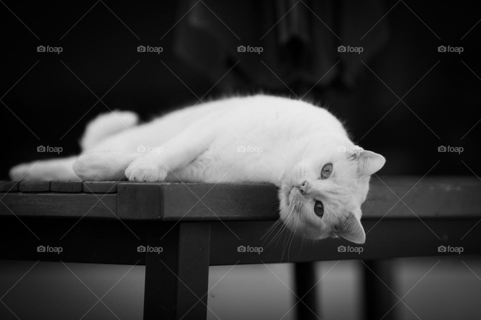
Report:
[[167,166],[149,157],[141,157],[129,164],[125,169],[125,176],[129,181],[157,182],[165,180],[168,172]]

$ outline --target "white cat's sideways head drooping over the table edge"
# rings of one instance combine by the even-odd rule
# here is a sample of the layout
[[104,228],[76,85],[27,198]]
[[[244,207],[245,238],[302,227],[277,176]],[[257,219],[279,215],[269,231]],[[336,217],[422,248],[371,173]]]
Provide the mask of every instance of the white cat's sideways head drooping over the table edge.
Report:
[[285,171],[279,189],[281,219],[307,238],[343,237],[364,243],[361,203],[370,175],[386,160],[353,144],[322,144],[304,150],[302,160]]

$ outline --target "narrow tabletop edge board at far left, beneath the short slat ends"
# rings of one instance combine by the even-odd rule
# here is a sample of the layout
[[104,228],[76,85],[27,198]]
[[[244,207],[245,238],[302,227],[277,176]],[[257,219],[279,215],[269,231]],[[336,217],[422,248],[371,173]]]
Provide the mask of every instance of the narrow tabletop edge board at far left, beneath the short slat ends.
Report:
[[[99,200],[100,199],[100,200]],[[116,219],[116,194],[88,193],[6,193],[0,216],[102,217]],[[112,213],[114,212],[114,213]]]

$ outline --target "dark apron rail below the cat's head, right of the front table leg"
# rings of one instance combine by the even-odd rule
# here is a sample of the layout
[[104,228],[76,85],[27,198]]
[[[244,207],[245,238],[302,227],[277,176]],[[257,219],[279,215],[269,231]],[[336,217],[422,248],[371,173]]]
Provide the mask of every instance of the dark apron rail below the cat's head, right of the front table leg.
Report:
[[[384,218],[380,221],[367,219],[363,221],[367,232],[363,245],[336,238],[302,241],[302,238],[294,237],[291,242],[289,232],[281,233],[279,241],[276,238],[271,242],[274,235],[266,234],[274,221],[212,221],[210,265],[228,265],[237,261],[249,264],[262,263],[261,261],[282,263],[458,255],[455,251],[439,252],[440,245],[462,246],[462,254],[458,255],[462,257],[464,254],[481,253],[481,223],[476,225],[478,221],[479,218],[437,218],[423,221],[417,218]],[[238,250],[242,245],[246,250]],[[248,245],[250,249],[247,248]],[[339,248],[340,245],[344,245],[346,250]],[[256,247],[262,247],[262,250],[256,250]],[[362,251],[357,248],[362,248]]]

